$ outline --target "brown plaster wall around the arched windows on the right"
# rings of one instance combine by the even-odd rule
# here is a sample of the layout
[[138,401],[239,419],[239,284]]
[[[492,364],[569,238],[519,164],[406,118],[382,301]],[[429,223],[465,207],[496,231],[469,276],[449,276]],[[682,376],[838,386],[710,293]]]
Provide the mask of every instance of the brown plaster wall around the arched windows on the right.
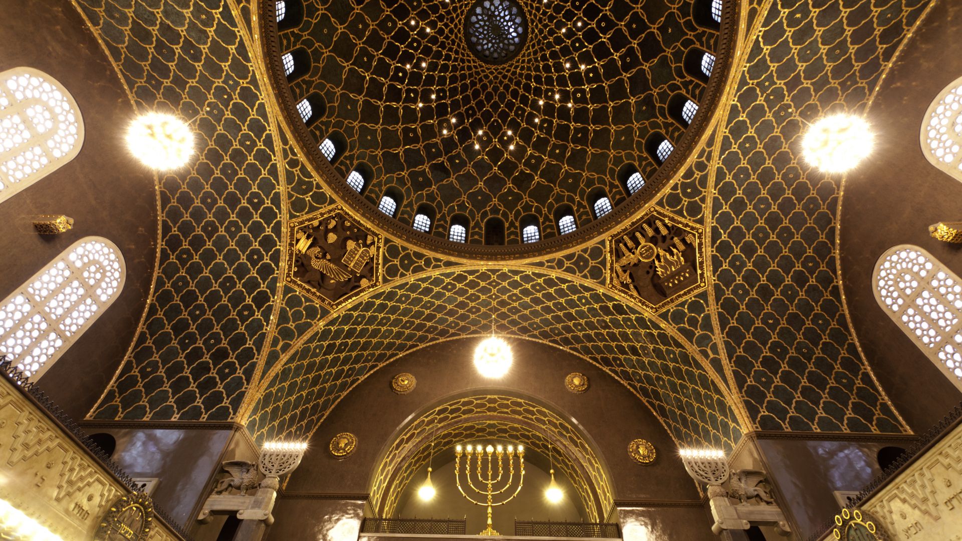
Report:
[[962,3],[933,2],[868,111],[875,150],[848,174],[840,220],[852,325],[882,388],[916,432],[934,425],[962,394],[878,306],[872,276],[882,252],[900,244],[919,245],[962,274],[959,246],[927,232],[929,224],[962,217],[962,184],[931,166],[919,142],[932,99],[962,76],[962,57],[952,46],[962,32]]

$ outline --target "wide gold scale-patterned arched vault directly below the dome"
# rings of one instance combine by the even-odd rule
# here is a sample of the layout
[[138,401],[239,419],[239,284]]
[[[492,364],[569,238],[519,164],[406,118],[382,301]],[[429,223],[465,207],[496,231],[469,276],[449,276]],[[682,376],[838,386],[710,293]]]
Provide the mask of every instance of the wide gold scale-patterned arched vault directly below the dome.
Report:
[[246,424],[309,436],[344,393],[394,357],[490,332],[544,341],[618,377],[679,444],[731,447],[742,430],[716,381],[669,331],[591,285],[539,270],[447,270],[395,283],[318,324],[266,374]]

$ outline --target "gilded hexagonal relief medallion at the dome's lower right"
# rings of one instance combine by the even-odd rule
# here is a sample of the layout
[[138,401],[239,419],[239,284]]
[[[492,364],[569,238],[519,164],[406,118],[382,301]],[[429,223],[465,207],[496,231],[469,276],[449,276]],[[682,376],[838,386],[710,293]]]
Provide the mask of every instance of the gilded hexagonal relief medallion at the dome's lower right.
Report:
[[[651,244],[650,240],[657,237],[664,239]],[[652,206],[605,238],[605,285],[621,295],[634,298],[651,313],[661,312],[708,287],[704,238],[704,227],[701,225]],[[643,249],[646,245],[651,246],[647,252]],[[694,256],[685,254],[689,247],[694,249]],[[628,282],[630,270],[625,270],[622,265],[626,259],[635,264],[649,263],[653,269],[657,268],[650,278],[644,280],[646,285],[651,282],[649,287],[638,287],[637,284],[643,280],[634,275],[634,283]],[[677,263],[671,264],[671,261]],[[686,270],[694,271],[694,274],[679,275]],[[661,274],[663,271],[664,276]]]

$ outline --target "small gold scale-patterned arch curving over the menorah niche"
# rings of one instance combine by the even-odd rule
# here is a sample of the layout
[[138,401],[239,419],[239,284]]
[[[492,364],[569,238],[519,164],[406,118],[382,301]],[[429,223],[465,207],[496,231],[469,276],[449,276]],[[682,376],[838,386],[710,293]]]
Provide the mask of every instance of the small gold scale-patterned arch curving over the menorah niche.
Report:
[[[524,425],[519,425],[516,420],[524,420]],[[381,516],[393,514],[408,480],[427,462],[432,440],[434,455],[445,454],[436,458],[435,463],[447,462],[453,456],[454,446],[479,441],[514,442],[544,457],[551,449],[558,460],[556,466],[570,478],[589,509],[590,520],[597,520],[599,510],[595,502],[601,503],[601,511],[606,511],[614,502],[611,481],[595,451],[564,419],[530,400],[476,396],[451,400],[431,409],[407,425],[392,442],[374,473],[370,490],[371,506],[382,509]],[[575,465],[571,456],[582,459],[581,464]],[[392,478],[395,475],[397,477]]]

